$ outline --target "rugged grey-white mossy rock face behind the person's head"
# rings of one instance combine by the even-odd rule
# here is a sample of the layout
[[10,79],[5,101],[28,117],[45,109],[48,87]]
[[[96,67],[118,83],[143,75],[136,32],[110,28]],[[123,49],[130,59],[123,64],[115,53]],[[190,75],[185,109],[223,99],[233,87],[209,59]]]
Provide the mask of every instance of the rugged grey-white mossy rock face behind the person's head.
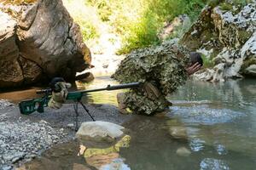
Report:
[[195,75],[199,79],[256,77],[256,3],[207,6],[180,42],[212,61],[210,68]]

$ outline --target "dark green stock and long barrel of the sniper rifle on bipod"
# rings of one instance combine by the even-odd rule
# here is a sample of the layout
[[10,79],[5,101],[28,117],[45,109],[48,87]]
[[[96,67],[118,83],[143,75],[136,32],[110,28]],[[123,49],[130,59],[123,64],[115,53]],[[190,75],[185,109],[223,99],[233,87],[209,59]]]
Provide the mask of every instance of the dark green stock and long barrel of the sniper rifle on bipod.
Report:
[[[118,89],[125,89],[125,88],[138,88],[140,85],[141,85],[140,82],[131,82],[126,84],[114,85],[114,86],[108,85],[107,88],[96,88],[96,89],[90,89],[90,90],[69,92],[67,94],[67,100],[80,101],[84,95],[91,92],[98,92],[98,91],[104,91],[104,90],[110,91],[110,90],[118,90]],[[44,107],[48,106],[49,99],[51,98],[51,89],[40,90],[37,92],[37,94],[45,94],[45,95],[42,98],[27,99],[19,103],[21,114],[29,115],[34,111],[38,111],[39,113],[44,112]]]

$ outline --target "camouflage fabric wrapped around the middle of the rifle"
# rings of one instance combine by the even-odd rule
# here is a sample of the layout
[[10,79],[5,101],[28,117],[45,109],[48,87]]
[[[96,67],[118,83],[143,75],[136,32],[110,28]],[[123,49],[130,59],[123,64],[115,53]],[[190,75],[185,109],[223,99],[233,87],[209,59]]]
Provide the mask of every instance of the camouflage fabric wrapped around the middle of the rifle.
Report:
[[62,104],[66,102],[68,94],[67,88],[71,88],[71,84],[67,82],[56,82],[56,85],[61,88],[61,91],[57,93],[52,92],[48,106],[53,109],[60,109]]

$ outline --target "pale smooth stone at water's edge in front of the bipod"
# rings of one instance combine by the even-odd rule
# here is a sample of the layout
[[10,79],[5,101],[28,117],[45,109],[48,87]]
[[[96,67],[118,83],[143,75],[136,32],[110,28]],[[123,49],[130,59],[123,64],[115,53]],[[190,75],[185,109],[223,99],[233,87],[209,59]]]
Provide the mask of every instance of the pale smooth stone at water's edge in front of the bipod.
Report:
[[[76,137],[86,147],[106,147],[116,142],[116,139],[124,135],[125,127],[121,127],[111,122],[83,122]],[[92,145],[91,145],[92,144]]]

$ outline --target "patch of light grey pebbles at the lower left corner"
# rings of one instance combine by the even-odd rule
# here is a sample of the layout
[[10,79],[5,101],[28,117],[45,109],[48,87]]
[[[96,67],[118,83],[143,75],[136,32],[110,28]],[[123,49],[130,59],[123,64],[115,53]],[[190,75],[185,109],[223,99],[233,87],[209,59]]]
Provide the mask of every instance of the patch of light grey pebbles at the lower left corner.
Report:
[[63,128],[50,127],[44,120],[0,122],[0,169],[13,169],[14,164],[32,159],[51,145],[65,141],[67,133],[63,131]]

